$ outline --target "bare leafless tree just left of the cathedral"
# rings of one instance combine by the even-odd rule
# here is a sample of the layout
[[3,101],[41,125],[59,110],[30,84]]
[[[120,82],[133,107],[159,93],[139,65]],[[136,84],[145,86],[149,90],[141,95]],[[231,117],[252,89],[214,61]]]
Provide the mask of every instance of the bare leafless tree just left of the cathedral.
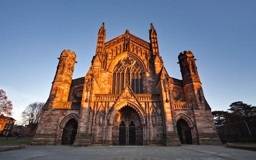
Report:
[[44,103],[35,102],[28,105],[22,112],[24,124],[30,127],[30,134],[37,128]]

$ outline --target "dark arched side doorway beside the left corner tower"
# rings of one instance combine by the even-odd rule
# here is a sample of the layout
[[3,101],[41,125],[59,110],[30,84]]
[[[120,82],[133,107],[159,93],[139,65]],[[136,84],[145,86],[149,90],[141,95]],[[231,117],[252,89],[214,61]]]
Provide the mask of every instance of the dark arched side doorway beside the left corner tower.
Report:
[[63,133],[61,144],[73,144],[76,138],[78,122],[75,119],[70,119],[66,123]]

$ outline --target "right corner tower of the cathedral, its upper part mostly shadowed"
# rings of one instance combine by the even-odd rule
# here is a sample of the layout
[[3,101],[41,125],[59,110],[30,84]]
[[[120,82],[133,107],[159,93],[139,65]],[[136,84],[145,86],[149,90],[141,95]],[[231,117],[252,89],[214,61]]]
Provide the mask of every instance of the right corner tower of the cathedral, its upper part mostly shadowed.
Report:
[[202,83],[195,63],[196,59],[191,51],[180,53],[178,59],[185,100],[187,103],[192,103],[197,143],[220,144],[220,139],[212,118],[211,108],[204,98]]

